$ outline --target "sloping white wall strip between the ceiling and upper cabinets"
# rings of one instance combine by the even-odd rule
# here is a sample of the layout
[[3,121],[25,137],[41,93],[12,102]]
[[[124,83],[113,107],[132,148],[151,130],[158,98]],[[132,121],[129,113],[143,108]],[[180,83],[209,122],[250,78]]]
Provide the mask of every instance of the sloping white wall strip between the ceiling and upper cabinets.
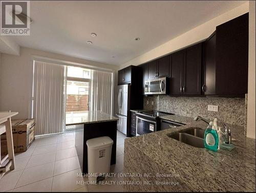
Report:
[[177,51],[179,49],[187,47],[189,45],[195,44],[196,42],[209,37],[209,35],[216,30],[216,26],[223,24],[230,19],[233,19],[240,15],[243,15],[244,13],[247,13],[248,11],[249,11],[249,3],[247,2],[237,8],[234,8],[234,9],[218,16],[218,17],[215,17],[214,19],[209,20],[208,22],[206,22],[194,29],[191,29],[190,31],[188,31],[172,40],[167,41],[166,43],[160,45],[159,47],[157,47],[151,51],[148,51],[145,54],[142,54],[142,55],[138,56],[137,58],[132,59],[129,62],[124,63],[123,65],[121,65],[121,67],[119,69],[122,69],[122,68],[130,66],[130,65],[137,66],[137,65],[140,65],[147,61],[154,60],[161,56],[167,55],[169,53],[172,53],[174,51]]

